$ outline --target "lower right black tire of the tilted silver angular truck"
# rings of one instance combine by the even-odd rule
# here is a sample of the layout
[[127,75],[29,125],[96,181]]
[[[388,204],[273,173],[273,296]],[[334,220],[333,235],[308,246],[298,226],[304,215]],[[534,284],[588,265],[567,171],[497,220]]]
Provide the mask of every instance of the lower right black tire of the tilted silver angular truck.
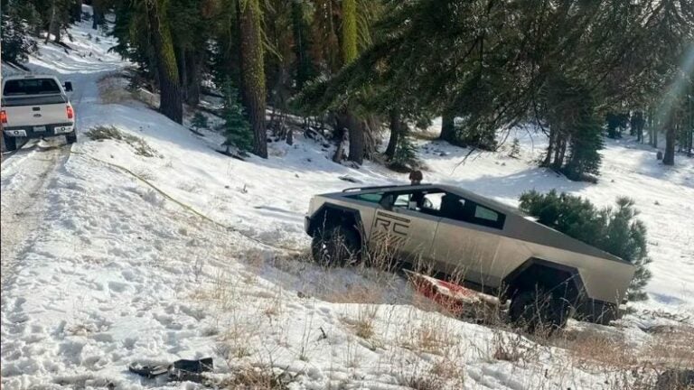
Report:
[[565,300],[542,290],[518,292],[509,307],[511,322],[530,333],[564,328],[568,314],[569,305]]

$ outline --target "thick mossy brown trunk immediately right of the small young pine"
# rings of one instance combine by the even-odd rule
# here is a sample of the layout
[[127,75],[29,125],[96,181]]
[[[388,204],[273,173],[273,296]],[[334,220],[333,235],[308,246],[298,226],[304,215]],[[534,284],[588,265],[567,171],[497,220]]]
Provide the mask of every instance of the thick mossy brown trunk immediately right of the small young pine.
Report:
[[265,70],[258,0],[238,0],[241,50],[241,86],[253,129],[253,153],[267,158],[265,130]]

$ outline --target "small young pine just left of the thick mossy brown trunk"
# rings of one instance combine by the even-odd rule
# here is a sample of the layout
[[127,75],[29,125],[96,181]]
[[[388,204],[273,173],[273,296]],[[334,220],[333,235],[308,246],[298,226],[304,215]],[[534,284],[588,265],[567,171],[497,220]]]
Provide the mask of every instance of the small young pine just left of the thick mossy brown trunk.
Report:
[[224,135],[227,137],[223,145],[227,146],[227,153],[230,153],[231,145],[236,146],[242,152],[250,152],[253,150],[253,132],[243,112],[243,106],[240,104],[239,93],[236,88],[233,88],[230,80],[224,83],[223,90],[222,116]]

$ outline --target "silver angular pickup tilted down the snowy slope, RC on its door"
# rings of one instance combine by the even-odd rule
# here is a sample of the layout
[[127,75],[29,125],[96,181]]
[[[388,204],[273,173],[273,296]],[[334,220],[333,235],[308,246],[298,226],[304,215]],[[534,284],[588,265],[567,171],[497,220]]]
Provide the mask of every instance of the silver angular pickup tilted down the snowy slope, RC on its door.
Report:
[[510,301],[510,319],[530,327],[561,327],[572,315],[618,318],[635,271],[518,209],[446,185],[317,195],[305,230],[316,261],[346,265],[392,254],[406,269]]

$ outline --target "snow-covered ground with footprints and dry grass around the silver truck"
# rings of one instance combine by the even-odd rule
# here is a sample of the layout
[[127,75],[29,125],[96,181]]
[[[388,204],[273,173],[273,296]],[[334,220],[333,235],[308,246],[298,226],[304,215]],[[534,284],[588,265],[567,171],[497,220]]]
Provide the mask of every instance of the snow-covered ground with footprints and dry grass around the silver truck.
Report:
[[[215,151],[219,135],[194,135],[134,100],[106,104],[98,80],[127,63],[88,24],[72,29],[72,51],[41,45],[28,64],[73,81],[78,144],[29,144],[2,164],[3,388],[193,388],[142,379],[127,365],[208,356],[218,380],[274,367],[292,389],[615,389],[635,380],[577,364],[564,348],[421,310],[396,276],[287,258],[307,246],[311,196],[355,185],[341,176],[381,184],[407,175],[332,163],[302,135],[270,144],[267,160],[239,161]],[[154,156],[89,140],[98,126],[140,137]],[[638,355],[654,338],[630,324],[648,322],[647,311],[694,310],[694,161],[666,168],[650,147],[609,141],[600,181],[573,182],[537,168],[541,135],[515,132],[518,159],[464,161],[466,150],[418,141],[425,181],[509,204],[530,189],[602,206],[632,197],[654,260],[651,299],[618,332]],[[505,348],[520,356],[503,358]]]

